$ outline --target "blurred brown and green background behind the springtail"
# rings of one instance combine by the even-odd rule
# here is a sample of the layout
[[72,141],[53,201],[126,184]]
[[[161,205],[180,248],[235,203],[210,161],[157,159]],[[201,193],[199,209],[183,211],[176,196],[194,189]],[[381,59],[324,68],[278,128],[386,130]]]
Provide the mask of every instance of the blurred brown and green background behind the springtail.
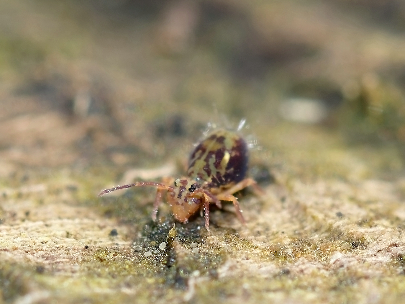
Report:
[[243,118],[268,166],[333,138],[402,174],[404,16],[401,0],[2,0],[2,184],[56,168],[98,188]]

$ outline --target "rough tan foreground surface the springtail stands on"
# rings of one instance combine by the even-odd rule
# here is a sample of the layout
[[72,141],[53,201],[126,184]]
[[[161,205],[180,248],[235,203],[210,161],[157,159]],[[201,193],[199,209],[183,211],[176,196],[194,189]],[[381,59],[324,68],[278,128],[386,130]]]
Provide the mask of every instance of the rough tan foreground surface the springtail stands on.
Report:
[[[297,132],[311,147],[299,154],[293,140],[277,137]],[[241,197],[245,226],[231,205],[212,210],[210,231],[200,216],[175,223],[166,206],[153,223],[153,191],[95,199],[88,178],[66,172],[4,188],[4,301],[404,302],[403,182],[370,178],[377,167],[367,163],[384,151],[339,148],[336,137],[313,129],[280,127],[268,136],[276,182],[263,197]]]

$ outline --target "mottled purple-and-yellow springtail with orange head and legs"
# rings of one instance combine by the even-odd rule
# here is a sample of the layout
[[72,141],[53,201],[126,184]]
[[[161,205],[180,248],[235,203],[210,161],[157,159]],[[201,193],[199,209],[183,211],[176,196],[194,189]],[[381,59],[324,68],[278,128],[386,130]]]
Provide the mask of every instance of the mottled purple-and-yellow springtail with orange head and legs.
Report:
[[132,186],[157,186],[153,219],[156,219],[162,195],[167,191],[167,201],[178,221],[187,223],[190,216],[204,209],[205,227],[208,229],[210,203],[221,208],[221,201],[232,201],[239,220],[244,223],[237,198],[232,194],[247,186],[254,186],[260,192],[254,180],[245,178],[247,163],[248,150],[243,138],[232,131],[216,130],[192,152],[188,176],[178,178],[173,184],[135,182],[104,190],[99,196]]

